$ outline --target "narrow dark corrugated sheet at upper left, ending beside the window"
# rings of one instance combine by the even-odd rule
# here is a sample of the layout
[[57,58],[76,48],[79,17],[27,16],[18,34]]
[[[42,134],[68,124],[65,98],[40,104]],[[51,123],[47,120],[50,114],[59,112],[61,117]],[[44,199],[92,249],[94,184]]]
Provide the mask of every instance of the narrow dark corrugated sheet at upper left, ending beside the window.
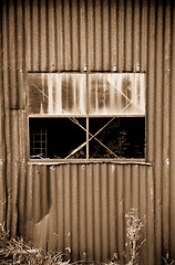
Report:
[[23,86],[24,72],[24,29],[22,3],[13,1],[2,4],[2,70],[8,77],[8,98],[10,108],[25,106]]

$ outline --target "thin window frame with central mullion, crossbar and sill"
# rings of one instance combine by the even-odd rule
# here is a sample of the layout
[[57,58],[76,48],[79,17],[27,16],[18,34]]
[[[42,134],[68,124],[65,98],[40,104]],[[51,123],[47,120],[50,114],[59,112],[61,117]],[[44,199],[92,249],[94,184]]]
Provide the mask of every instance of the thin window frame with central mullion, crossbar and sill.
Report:
[[[31,72],[30,72],[31,73]],[[61,72],[61,73],[64,73],[64,72]],[[65,72],[65,73],[71,73],[73,74],[72,72]],[[86,95],[89,97],[89,74],[99,74],[99,72],[86,72],[86,73],[82,73],[82,74],[85,74],[86,75]],[[100,72],[102,74],[111,74],[113,72]],[[35,74],[35,73],[33,73]],[[41,74],[41,73],[40,73]],[[48,73],[49,74],[49,73]],[[80,72],[78,74],[81,74]],[[113,73],[114,74],[114,73]],[[143,74],[143,73],[128,73],[128,74]],[[145,74],[145,73],[144,73]],[[146,76],[145,76],[145,81],[146,83]],[[29,88],[28,88],[29,89]],[[61,114],[29,114],[28,112],[28,161],[31,162],[31,163],[52,163],[52,165],[56,165],[56,163],[89,163],[89,162],[122,162],[122,163],[146,163],[147,161],[147,129],[146,129],[146,124],[147,124],[147,119],[146,119],[146,84],[145,84],[145,91],[144,91],[144,94],[145,94],[145,114],[144,115],[128,115],[128,114],[116,114],[116,115],[111,115],[111,114],[106,114],[106,115],[102,115],[102,114],[89,114],[89,100],[87,100],[87,104],[86,104],[86,110],[87,110],[87,114],[84,115],[84,114],[78,114],[78,115],[70,115],[70,114],[64,114],[64,115],[61,115]],[[29,98],[29,91],[28,91],[28,98]],[[27,107],[28,109],[28,107]],[[111,117],[111,118],[117,118],[117,117],[134,117],[134,118],[137,118],[137,117],[144,117],[145,118],[145,145],[144,145],[144,158],[90,158],[89,157],[89,118],[107,118],[107,117]],[[30,156],[30,126],[29,126],[29,119],[30,118],[85,118],[86,119],[86,158],[61,158],[61,159],[58,159],[58,158],[54,158],[54,159],[50,159],[50,158],[41,158],[41,159],[34,159],[34,158],[31,158]],[[89,157],[89,158],[87,158]],[[148,163],[150,165],[150,163]]]

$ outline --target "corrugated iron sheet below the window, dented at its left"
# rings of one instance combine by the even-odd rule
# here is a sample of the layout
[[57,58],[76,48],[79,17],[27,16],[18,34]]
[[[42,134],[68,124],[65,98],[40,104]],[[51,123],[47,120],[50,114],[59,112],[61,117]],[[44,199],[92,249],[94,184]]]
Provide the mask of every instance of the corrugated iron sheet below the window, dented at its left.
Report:
[[107,261],[114,252],[122,258],[130,254],[124,214],[136,208],[146,239],[142,253],[147,247],[148,254],[141,258],[154,264],[152,171],[137,165],[30,165],[27,179],[20,178],[19,232],[38,247],[70,247],[74,261]]

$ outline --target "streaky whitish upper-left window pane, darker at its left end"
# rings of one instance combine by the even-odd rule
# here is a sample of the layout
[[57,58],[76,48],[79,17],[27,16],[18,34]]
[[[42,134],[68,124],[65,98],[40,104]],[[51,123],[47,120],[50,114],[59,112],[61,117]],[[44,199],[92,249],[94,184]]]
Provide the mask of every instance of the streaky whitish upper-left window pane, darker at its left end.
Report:
[[86,114],[84,74],[28,74],[29,114]]

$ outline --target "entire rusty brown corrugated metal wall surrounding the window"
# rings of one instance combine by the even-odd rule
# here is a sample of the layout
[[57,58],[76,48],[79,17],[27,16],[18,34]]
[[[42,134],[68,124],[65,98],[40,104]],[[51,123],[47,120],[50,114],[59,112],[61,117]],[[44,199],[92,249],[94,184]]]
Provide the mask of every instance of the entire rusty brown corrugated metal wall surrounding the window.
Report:
[[[167,252],[175,258],[174,1],[0,4],[0,221],[30,243],[105,261],[116,246],[122,255],[123,216],[137,206],[142,264],[161,264]],[[114,64],[117,72],[146,72],[152,166],[28,162],[27,71],[113,71]]]

